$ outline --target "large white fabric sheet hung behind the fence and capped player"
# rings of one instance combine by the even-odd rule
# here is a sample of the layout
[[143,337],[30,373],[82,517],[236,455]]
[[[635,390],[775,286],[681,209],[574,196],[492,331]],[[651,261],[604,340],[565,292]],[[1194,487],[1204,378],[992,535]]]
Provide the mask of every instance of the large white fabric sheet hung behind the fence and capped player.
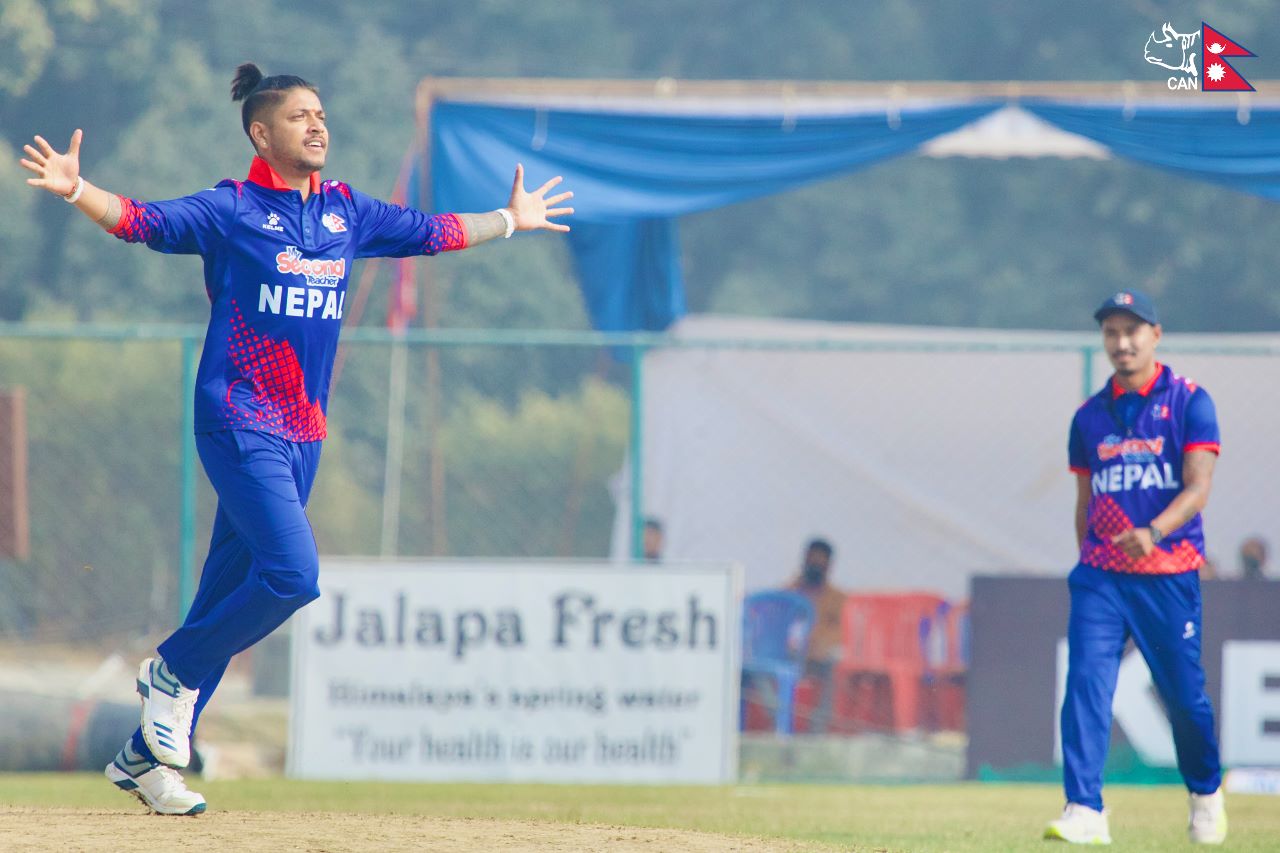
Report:
[[[804,542],[823,535],[841,587],[951,597],[975,573],[1074,565],[1066,435],[1097,336],[714,316],[686,318],[675,336],[719,345],[644,362],[644,514],[664,525],[666,558],[735,560],[759,589],[792,576]],[[1280,398],[1265,392],[1280,336],[1165,341],[1164,359],[1219,406],[1208,551],[1234,570],[1244,537],[1280,543]],[[1271,355],[1210,351],[1249,346]],[[1098,351],[1092,387],[1107,375]],[[618,555],[627,476],[614,484]]]

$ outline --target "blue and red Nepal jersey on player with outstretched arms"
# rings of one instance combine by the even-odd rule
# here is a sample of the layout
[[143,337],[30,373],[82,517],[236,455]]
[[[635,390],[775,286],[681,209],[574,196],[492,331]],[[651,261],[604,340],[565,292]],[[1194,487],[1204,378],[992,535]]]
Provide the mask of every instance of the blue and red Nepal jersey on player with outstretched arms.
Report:
[[113,234],[205,260],[210,316],[196,374],[197,433],[324,438],[352,261],[467,242],[453,214],[430,216],[317,174],[303,202],[260,158],[246,181],[172,201],[120,201]]

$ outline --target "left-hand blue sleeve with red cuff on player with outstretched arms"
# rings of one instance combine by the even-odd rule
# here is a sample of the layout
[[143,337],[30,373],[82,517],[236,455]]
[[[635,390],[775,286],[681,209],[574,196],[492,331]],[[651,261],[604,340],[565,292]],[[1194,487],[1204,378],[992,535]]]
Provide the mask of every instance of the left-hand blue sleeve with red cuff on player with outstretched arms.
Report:
[[170,201],[119,199],[120,222],[111,233],[169,255],[207,255],[227,238],[236,218],[236,191],[230,187]]

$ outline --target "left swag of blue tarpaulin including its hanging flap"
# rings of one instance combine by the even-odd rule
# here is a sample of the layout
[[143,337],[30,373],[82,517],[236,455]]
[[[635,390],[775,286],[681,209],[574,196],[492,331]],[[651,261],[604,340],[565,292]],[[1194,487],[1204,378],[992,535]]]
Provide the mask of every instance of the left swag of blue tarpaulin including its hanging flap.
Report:
[[[440,102],[434,210],[488,210],[516,163],[573,190],[570,246],[591,325],[666,329],[685,313],[675,218],[870,165],[998,102],[846,115],[671,115]],[[416,182],[411,182],[413,186]]]

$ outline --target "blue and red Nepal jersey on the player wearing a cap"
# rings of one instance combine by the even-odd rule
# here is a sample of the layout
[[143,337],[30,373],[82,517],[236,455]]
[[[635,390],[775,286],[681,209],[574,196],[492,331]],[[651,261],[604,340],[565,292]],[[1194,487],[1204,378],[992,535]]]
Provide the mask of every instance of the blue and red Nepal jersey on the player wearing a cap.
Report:
[[1071,421],[1071,470],[1087,474],[1093,489],[1080,562],[1134,574],[1178,574],[1204,564],[1199,514],[1146,557],[1134,560],[1111,537],[1142,528],[1183,491],[1183,456],[1220,450],[1217,414],[1208,392],[1165,365],[1147,387],[1125,392],[1112,377]]

